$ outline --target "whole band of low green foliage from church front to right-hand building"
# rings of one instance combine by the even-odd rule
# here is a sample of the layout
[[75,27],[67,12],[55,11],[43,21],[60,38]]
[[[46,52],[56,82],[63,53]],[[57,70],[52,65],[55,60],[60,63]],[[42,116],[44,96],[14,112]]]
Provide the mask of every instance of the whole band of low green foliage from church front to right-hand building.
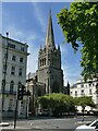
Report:
[[83,111],[86,106],[95,108],[90,96],[75,97],[61,93],[52,93],[37,98],[37,104],[40,104],[42,109],[52,109],[54,116],[60,116],[63,112],[75,112],[75,106],[82,106]]

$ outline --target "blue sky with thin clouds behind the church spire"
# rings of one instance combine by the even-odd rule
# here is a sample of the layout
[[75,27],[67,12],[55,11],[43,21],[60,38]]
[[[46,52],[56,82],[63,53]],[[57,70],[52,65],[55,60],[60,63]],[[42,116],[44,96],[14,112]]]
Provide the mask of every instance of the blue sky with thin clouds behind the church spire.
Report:
[[81,76],[81,53],[74,53],[71,45],[63,44],[64,37],[56,14],[63,8],[70,8],[69,2],[3,2],[2,35],[8,31],[11,38],[27,43],[29,48],[27,73],[35,72],[38,63],[38,50],[44,47],[48,25],[49,10],[52,12],[56,46],[61,46],[64,84],[71,84]]

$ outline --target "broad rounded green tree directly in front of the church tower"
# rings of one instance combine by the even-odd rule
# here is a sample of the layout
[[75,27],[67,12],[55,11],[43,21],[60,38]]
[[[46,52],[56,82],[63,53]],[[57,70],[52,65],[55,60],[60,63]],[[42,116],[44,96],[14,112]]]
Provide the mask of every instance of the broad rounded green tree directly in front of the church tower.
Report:
[[41,96],[37,102],[42,108],[51,108],[56,116],[62,115],[62,112],[75,111],[73,97],[61,93]]

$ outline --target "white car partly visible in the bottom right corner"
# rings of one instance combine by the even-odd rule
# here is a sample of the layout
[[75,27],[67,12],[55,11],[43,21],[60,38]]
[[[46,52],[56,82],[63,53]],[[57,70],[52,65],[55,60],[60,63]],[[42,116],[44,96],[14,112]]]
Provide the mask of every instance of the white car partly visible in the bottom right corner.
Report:
[[75,131],[98,131],[98,119],[83,126],[78,126]]

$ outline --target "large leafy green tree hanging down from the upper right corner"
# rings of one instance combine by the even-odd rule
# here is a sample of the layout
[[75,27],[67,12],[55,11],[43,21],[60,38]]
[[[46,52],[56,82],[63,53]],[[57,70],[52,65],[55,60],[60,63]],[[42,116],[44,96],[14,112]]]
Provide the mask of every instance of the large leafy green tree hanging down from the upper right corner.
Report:
[[72,2],[57,17],[66,41],[75,51],[82,47],[84,79],[98,78],[98,1]]

